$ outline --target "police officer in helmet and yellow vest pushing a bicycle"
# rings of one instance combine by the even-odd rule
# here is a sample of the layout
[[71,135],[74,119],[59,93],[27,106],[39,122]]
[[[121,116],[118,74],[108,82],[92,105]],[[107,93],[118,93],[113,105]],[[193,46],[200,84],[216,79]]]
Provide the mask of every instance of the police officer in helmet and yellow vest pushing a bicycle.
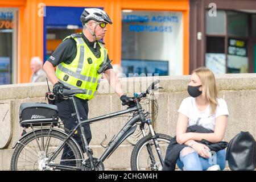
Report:
[[[63,100],[59,94],[61,88],[86,90],[86,94],[77,94],[75,97],[80,117],[83,120],[88,118],[88,101],[94,98],[102,73],[105,74],[121,101],[128,106],[133,106],[131,98],[123,94],[122,85],[110,64],[108,50],[101,41],[106,34],[107,24],[112,24],[112,20],[105,11],[95,8],[84,9],[80,20],[83,26],[82,32],[67,36],[43,66],[47,77],[53,84],[59,117],[64,122],[64,127],[69,130],[77,125],[77,119],[72,117],[72,113],[75,113],[72,101]],[[102,65],[106,64],[106,68],[103,69]],[[56,67],[56,72],[54,67]],[[101,70],[100,73],[99,70]],[[84,125],[84,131],[89,143],[92,139],[90,126]],[[74,135],[74,138],[82,148],[80,132]],[[65,146],[61,159],[71,159],[70,155],[72,154]]]

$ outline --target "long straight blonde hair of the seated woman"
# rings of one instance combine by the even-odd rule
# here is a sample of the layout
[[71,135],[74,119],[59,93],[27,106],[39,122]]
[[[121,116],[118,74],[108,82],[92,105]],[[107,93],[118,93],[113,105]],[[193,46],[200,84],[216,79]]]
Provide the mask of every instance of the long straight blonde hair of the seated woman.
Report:
[[196,73],[196,75],[200,78],[202,82],[202,92],[205,94],[205,97],[210,102],[210,114],[214,114],[216,111],[216,107],[218,105],[217,97],[218,91],[216,87],[215,77],[210,69],[205,67],[196,68],[192,73]]

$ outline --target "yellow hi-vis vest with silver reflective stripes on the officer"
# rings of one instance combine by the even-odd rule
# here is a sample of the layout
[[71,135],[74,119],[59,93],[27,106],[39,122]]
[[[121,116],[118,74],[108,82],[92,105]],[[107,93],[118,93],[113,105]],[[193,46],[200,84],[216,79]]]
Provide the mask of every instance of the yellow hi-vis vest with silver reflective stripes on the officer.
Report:
[[67,36],[65,39],[68,38],[76,40],[76,57],[71,64],[62,62],[57,65],[56,76],[65,86],[69,86],[71,89],[86,91],[86,94],[76,94],[76,97],[91,100],[97,92],[98,84],[100,84],[102,77],[101,74],[97,73],[97,70],[103,62],[106,63],[108,51],[102,43],[98,42],[101,47],[101,56],[97,58],[90,51],[81,34],[71,34],[71,36]]

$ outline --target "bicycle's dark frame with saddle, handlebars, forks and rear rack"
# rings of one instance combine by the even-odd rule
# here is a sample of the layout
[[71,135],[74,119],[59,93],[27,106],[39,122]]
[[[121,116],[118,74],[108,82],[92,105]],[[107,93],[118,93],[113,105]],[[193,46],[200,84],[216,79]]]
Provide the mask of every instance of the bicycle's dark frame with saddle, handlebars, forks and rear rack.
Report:
[[[20,140],[24,139],[24,137],[27,137],[28,135],[30,136],[31,134],[34,134],[34,137],[36,138],[36,142],[39,146],[39,150],[41,151],[40,144],[38,143],[38,140],[37,140],[37,137],[36,137],[36,134],[35,134],[35,131],[38,132],[39,130],[41,130],[41,133],[39,133],[39,134],[41,134],[41,137],[42,137],[42,147],[43,147],[43,151],[44,151],[43,130],[48,131],[48,137],[49,137],[49,134],[51,133],[52,130],[54,130],[56,132],[59,131],[60,133],[65,135],[64,138],[61,137],[61,140],[63,140],[63,142],[61,142],[59,144],[59,146],[57,146],[57,149],[54,152],[51,152],[51,156],[47,155],[47,150],[48,149],[46,151],[44,151],[45,152],[44,155],[46,155],[46,156],[44,156],[44,159],[40,160],[40,162],[42,162],[42,164],[41,164],[41,166],[39,166],[39,169],[44,169],[44,168],[51,169],[51,168],[47,168],[47,166],[48,166],[48,167],[53,167],[52,169],[71,169],[71,170],[72,169],[73,170],[87,170],[87,169],[89,169],[89,170],[93,171],[95,169],[96,170],[101,169],[101,168],[98,168],[98,167],[104,167],[102,163],[105,161],[105,159],[109,158],[109,156],[112,155],[112,153],[115,151],[115,149],[127,137],[129,137],[131,134],[133,134],[134,131],[137,129],[137,126],[135,124],[137,124],[137,125],[139,124],[143,137],[146,137],[147,134],[146,134],[146,131],[144,129],[144,125],[147,124],[148,128],[150,130],[150,134],[149,134],[148,137],[150,137],[150,138],[148,138],[148,137],[143,138],[142,142],[145,142],[144,140],[146,139],[146,142],[147,142],[146,143],[146,149],[147,149],[147,152],[149,154],[148,159],[151,160],[151,164],[150,164],[151,169],[153,169],[153,170],[159,169],[158,168],[158,163],[155,160],[155,156],[152,153],[152,147],[151,146],[155,146],[155,150],[156,150],[156,152],[158,154],[158,157],[160,159],[160,163],[163,166],[163,155],[162,155],[162,152],[160,150],[159,143],[158,143],[158,138],[160,138],[160,134],[159,134],[159,136],[155,134],[155,131],[152,127],[152,123],[151,123],[150,118],[146,119],[146,117],[148,117],[148,114],[150,114],[150,113],[148,113],[148,112],[144,113],[144,110],[142,109],[142,106],[140,104],[141,98],[146,97],[146,95],[150,93],[150,90],[152,90],[154,92],[155,90],[158,90],[160,88],[160,87],[159,88],[155,87],[155,85],[158,84],[158,83],[159,83],[159,80],[156,80],[156,81],[152,82],[152,84],[147,88],[146,92],[142,92],[140,94],[134,93],[134,97],[132,97],[131,100],[130,100],[130,101],[135,102],[136,105],[134,107],[130,107],[130,108],[127,108],[125,110],[117,111],[115,113],[101,115],[100,117],[86,119],[86,120],[83,120],[83,121],[81,120],[80,113],[79,113],[79,110],[77,108],[76,100],[74,99],[76,93],[80,93],[81,90],[78,90],[78,91],[77,90],[71,90],[69,92],[64,92],[64,91],[59,90],[59,92],[61,94],[63,94],[64,97],[66,97],[69,100],[72,100],[73,107],[75,108],[75,113],[72,114],[72,117],[76,116],[78,124],[71,130],[65,129],[64,127],[61,127],[58,124],[57,126],[59,126],[60,128],[65,130],[65,133],[64,133],[64,131],[61,131],[61,130],[58,130],[58,129],[53,129],[52,128],[53,123],[51,123],[51,126],[48,129],[48,127],[43,128],[43,126],[48,126],[48,125],[43,125],[43,122],[42,122],[41,123],[41,129],[37,129],[37,130],[34,130],[33,125],[32,125],[33,123],[30,123],[30,127],[32,128],[32,131],[28,132],[27,134],[24,134],[21,138],[19,138],[19,140],[15,143],[13,148],[15,148],[15,146],[18,143],[20,143]],[[127,103],[123,102],[122,105],[126,105]],[[94,123],[94,122],[97,122],[97,121],[102,121],[104,119],[118,117],[119,115],[123,115],[123,114],[127,114],[127,113],[133,113],[133,117],[130,118],[129,121],[127,121],[127,123],[125,124],[125,126],[122,127],[122,129],[119,131],[117,136],[113,137],[106,147],[103,146],[102,143],[101,143],[101,145],[104,148],[106,148],[106,150],[103,152],[103,154],[100,156],[100,158],[97,159],[97,161],[95,161],[94,160],[95,158],[93,158],[93,151],[89,147],[88,141],[86,140],[86,134],[85,134],[85,131],[84,131],[84,127],[82,127],[82,126],[83,125],[90,125],[91,123]],[[77,130],[79,130],[81,132],[80,133],[81,142],[82,142],[81,146],[72,137],[73,134],[77,133]],[[44,131],[44,133],[45,133],[45,131]],[[166,138],[166,137],[163,137],[163,138]],[[150,139],[150,140],[148,140],[148,139]],[[60,152],[64,148],[66,142],[67,141],[69,142],[69,140],[72,140],[75,143],[76,147],[79,149],[79,152],[80,152],[81,156],[79,156],[79,159],[74,159],[74,160],[79,160],[79,161],[82,160],[82,166],[74,167],[74,166],[65,166],[65,165],[62,165],[61,163],[60,164],[55,164],[54,163],[54,160],[56,159],[56,156],[60,154]],[[47,144],[48,141],[49,140],[47,138],[46,147],[48,147],[48,145],[49,145],[49,143]],[[104,141],[105,141],[105,139],[104,139]],[[104,142],[104,141],[102,141],[102,142]],[[152,143],[152,141],[153,141],[153,143]],[[74,148],[74,149],[76,149],[76,148]],[[23,150],[23,148],[21,148],[21,150]],[[18,151],[20,151],[20,148],[18,149]],[[88,155],[88,158],[84,157],[84,154],[83,154],[84,152],[86,152],[86,154]],[[138,152],[138,151],[135,150],[135,152]],[[15,157],[17,158],[17,156],[15,156]],[[19,154],[18,154],[18,157],[19,157]],[[137,157],[137,156],[135,156],[135,157]],[[135,158],[132,158],[132,159],[135,159]],[[63,160],[66,160],[66,159],[63,159]],[[67,159],[67,160],[69,160],[69,159]],[[73,159],[70,159],[70,160],[73,160]],[[138,161],[136,163],[138,163]],[[12,163],[11,165],[16,165],[16,164]],[[134,165],[133,165],[133,167],[134,167]],[[137,168],[138,168],[138,166],[137,166]]]

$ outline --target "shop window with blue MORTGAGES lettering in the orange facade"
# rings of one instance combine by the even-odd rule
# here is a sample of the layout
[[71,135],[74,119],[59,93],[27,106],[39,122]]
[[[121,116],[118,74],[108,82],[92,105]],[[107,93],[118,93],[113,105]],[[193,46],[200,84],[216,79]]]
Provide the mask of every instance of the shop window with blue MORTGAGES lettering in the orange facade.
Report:
[[181,12],[122,11],[123,73],[182,75]]

